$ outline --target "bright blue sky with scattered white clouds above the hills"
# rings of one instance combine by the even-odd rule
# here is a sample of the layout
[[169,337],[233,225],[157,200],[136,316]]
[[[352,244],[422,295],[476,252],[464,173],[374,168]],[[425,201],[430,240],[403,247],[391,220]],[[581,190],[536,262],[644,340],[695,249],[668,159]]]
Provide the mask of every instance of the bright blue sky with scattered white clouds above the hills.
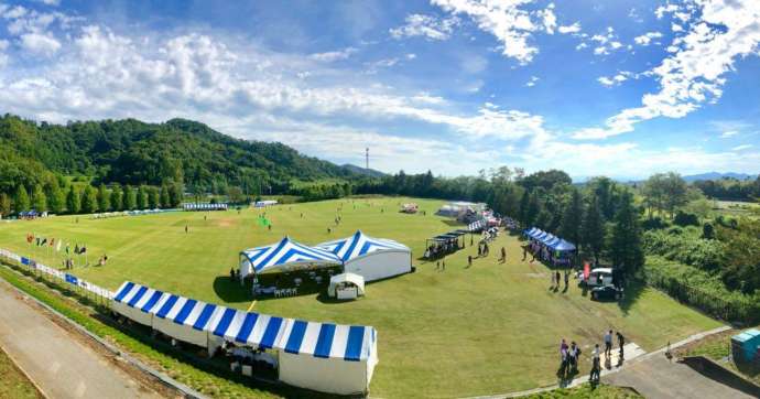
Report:
[[0,3],[0,109],[386,172],[760,172],[760,1]]

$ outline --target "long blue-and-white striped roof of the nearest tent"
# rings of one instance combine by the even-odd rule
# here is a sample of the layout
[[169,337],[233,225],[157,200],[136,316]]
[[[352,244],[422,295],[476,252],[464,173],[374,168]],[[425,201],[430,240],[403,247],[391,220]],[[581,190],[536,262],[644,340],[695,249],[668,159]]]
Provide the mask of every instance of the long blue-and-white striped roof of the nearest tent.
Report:
[[373,327],[305,322],[205,303],[124,281],[116,302],[239,344],[349,362],[370,356]]

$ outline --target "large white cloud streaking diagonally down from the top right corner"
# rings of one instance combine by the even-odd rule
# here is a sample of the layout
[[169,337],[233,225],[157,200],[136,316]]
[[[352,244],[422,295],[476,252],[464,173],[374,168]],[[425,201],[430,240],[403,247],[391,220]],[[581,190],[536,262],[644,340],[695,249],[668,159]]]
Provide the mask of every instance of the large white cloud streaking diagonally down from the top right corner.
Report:
[[[608,118],[604,128],[582,129],[576,139],[601,139],[633,130],[638,122],[658,117],[683,118],[705,101],[716,101],[726,83],[723,75],[734,68],[737,57],[753,54],[760,43],[760,2],[726,3],[699,0],[701,20],[673,55],[648,72],[660,83],[660,91],[645,94],[641,107],[628,108]],[[714,26],[723,26],[717,29]]]

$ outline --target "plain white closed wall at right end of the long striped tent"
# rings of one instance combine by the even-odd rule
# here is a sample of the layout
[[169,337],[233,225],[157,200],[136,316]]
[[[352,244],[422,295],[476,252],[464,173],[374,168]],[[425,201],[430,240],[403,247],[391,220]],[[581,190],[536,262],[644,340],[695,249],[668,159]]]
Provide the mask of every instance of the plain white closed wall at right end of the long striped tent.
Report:
[[280,351],[280,380],[322,392],[365,393],[369,390],[370,368],[368,360],[347,362]]

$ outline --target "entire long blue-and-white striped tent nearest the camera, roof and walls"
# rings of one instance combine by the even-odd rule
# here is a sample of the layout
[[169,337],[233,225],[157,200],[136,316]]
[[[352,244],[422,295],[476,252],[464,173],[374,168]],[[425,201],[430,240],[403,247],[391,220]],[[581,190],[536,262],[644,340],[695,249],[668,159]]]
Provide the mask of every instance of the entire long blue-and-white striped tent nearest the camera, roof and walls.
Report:
[[[329,393],[366,393],[378,363],[370,326],[306,322],[204,303],[126,281],[111,309],[214,353],[224,341],[278,352],[280,380]],[[135,319],[139,320],[135,320]]]

